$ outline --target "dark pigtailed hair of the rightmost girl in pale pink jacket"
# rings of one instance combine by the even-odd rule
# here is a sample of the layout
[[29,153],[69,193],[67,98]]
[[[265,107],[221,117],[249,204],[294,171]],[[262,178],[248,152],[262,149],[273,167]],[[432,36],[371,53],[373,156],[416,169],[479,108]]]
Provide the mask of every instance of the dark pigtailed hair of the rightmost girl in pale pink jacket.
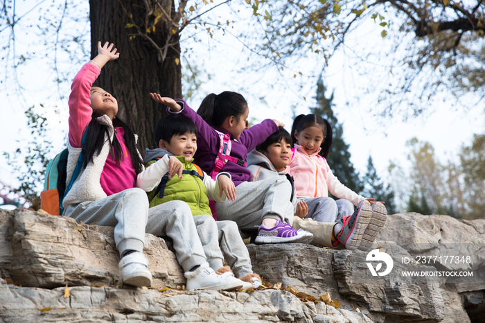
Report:
[[328,156],[328,152],[330,152],[330,146],[332,146],[332,126],[330,125],[330,123],[328,123],[327,119],[322,118],[318,114],[300,114],[294,119],[291,128],[291,137],[293,139],[292,146],[297,143],[297,137],[294,137],[294,130],[297,130],[297,132],[301,132],[306,128],[310,128],[314,125],[319,126],[321,128],[321,131],[324,132],[324,140],[321,141],[321,150],[318,155],[326,158]]

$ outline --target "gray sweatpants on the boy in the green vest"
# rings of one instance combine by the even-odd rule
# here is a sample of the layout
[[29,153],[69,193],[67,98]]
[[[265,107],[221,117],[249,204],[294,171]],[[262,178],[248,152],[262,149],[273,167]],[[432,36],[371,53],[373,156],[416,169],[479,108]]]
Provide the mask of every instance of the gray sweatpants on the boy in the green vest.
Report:
[[213,270],[222,267],[225,257],[236,277],[253,273],[249,252],[239,234],[236,222],[215,221],[208,215],[194,216],[193,219],[207,262]]

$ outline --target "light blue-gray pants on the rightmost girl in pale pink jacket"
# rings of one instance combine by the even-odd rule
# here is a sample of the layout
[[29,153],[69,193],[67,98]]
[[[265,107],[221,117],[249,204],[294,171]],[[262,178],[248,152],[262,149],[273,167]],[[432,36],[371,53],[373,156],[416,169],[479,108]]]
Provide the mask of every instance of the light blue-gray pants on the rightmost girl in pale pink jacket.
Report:
[[353,204],[349,200],[333,200],[333,198],[302,198],[308,205],[308,215],[317,222],[341,222],[344,216],[353,213]]

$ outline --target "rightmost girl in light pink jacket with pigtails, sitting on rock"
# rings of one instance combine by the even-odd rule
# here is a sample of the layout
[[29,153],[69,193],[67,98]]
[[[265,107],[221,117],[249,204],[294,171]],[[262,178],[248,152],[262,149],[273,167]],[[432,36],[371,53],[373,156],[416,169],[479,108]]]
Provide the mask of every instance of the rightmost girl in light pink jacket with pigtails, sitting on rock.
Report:
[[[385,224],[387,211],[382,202],[358,195],[333,175],[326,161],[333,137],[330,123],[316,114],[300,114],[294,119],[291,134],[290,174],[294,177],[299,199],[297,215],[301,214],[298,210],[303,209],[308,211],[304,218],[337,222],[333,237],[337,245],[342,226],[353,225],[346,223],[351,218],[349,215],[358,213],[355,245],[360,250],[369,249]],[[340,200],[329,198],[328,191]]]

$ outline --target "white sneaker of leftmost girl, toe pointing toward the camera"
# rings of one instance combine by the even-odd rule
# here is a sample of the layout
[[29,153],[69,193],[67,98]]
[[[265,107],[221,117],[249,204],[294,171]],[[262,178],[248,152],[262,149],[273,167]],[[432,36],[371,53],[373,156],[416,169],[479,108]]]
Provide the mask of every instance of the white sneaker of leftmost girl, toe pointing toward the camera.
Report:
[[120,280],[125,285],[134,287],[152,286],[152,274],[147,266],[148,259],[142,252],[133,252],[124,256],[118,264],[121,269]]

